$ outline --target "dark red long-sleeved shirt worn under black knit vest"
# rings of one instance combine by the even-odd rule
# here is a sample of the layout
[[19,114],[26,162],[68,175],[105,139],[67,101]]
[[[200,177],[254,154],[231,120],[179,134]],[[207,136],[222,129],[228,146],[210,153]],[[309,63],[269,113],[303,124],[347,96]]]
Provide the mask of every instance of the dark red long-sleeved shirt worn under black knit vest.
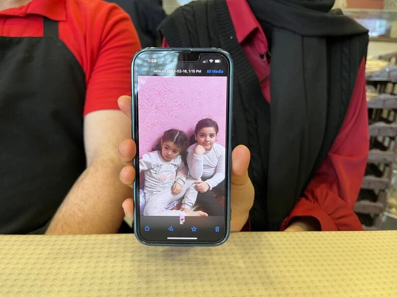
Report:
[[[265,34],[246,0],[226,0],[241,44],[261,84],[262,94],[270,103],[270,66],[260,54],[268,51]],[[281,225],[311,216],[322,230],[362,230],[353,212],[362,183],[368,154],[368,118],[365,97],[365,60],[361,62],[345,120],[327,157],[311,180],[304,195]]]

